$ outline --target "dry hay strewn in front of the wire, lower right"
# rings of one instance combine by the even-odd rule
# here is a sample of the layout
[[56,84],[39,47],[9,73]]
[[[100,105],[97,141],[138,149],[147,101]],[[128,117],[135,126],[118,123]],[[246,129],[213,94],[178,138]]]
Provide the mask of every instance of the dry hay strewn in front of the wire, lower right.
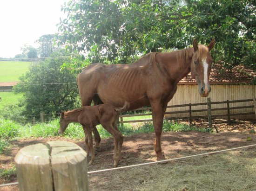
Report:
[[256,190],[256,148],[89,175],[91,191]]

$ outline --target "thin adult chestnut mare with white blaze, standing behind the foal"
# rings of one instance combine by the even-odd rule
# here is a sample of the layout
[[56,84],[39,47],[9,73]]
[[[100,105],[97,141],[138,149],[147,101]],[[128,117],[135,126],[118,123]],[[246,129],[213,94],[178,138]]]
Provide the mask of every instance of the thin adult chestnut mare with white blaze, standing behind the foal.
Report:
[[[191,72],[200,96],[210,92],[209,75],[213,59],[208,46],[193,42],[192,48],[168,53],[154,52],[133,64],[91,64],[77,76],[82,106],[110,103],[125,110],[151,105],[155,127],[155,153],[163,160],[161,148],[162,123],[168,102],[173,98],[177,83]],[[94,128],[95,147],[100,147],[100,135]]]

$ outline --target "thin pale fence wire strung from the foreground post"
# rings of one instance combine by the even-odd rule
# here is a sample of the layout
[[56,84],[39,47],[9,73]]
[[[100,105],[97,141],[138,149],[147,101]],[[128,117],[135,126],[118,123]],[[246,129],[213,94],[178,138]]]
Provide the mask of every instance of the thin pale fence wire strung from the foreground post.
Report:
[[[220,150],[220,151],[213,151],[213,152],[209,152],[209,153],[189,155],[189,156],[179,157],[179,158],[174,158],[174,159],[166,159],[166,160],[155,161],[155,162],[141,163],[141,164],[137,164],[137,165],[120,166],[120,167],[116,167],[116,168],[108,168],[108,169],[103,169],[103,170],[90,171],[90,172],[88,172],[88,174],[93,174],[93,173],[98,173],[98,172],[114,171],[114,170],[120,170],[120,169],[132,168],[132,167],[138,167],[138,166],[153,165],[153,164],[162,163],[162,162],[169,162],[169,161],[172,161],[172,160],[187,159],[187,158],[198,157],[198,156],[203,156],[203,155],[207,155],[207,154],[222,153],[222,152],[226,152],[226,151],[232,151],[232,150],[242,149],[242,148],[246,148],[246,147],[253,147],[253,146],[256,146],[256,144],[247,145],[247,146],[240,146],[240,147],[235,147],[235,148],[229,148],[229,149],[224,149],[224,150]],[[10,185],[17,185],[17,184],[19,184],[19,183],[18,182],[13,182],[13,183],[0,185],[0,187],[10,186]]]

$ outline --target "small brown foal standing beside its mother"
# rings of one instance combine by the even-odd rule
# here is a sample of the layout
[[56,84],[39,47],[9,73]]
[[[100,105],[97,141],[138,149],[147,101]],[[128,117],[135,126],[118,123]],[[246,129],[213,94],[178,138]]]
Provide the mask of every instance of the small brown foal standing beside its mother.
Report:
[[63,134],[71,122],[79,122],[83,126],[85,133],[85,145],[87,159],[91,153],[91,161],[94,162],[95,155],[93,149],[92,132],[96,125],[101,124],[115,138],[114,167],[118,166],[121,159],[121,149],[123,136],[117,127],[121,108],[115,108],[111,104],[101,104],[97,106],[85,106],[68,112],[62,112],[60,117],[59,133]]

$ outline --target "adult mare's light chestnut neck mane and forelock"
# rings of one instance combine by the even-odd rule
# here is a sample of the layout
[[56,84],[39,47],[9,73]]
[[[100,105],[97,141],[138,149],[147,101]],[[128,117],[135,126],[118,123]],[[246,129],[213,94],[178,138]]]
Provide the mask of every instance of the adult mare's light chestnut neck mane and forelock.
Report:
[[[185,67],[186,64],[189,63],[189,59],[191,59],[193,57],[193,52],[194,52],[193,47],[177,51],[177,56],[176,56],[177,62],[181,68]],[[206,57],[208,52],[209,52],[209,49],[207,46],[198,45],[198,52],[197,52],[195,59],[198,59],[199,57],[200,58]]]

